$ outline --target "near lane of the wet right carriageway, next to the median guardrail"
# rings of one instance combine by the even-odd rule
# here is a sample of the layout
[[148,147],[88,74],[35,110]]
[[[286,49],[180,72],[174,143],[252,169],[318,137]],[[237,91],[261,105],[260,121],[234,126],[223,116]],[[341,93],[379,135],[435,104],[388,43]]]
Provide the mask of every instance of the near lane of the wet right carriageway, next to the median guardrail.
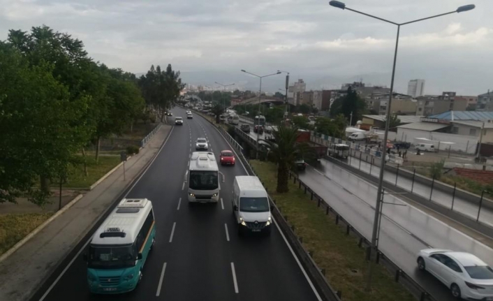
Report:
[[[310,183],[309,186],[318,196],[321,196],[328,205],[341,214],[348,223],[351,223],[361,235],[371,241],[374,209],[369,204],[348,193],[348,191],[334,184],[334,182],[320,177],[312,168],[307,168],[305,172],[300,173],[300,179],[305,183]],[[399,207],[399,210],[406,210],[402,206],[395,207]],[[421,273],[417,269],[415,256],[420,249],[427,247],[426,244],[420,242],[420,240],[410,235],[404,228],[397,226],[387,217],[382,218],[378,249],[383,251],[383,254],[399,265],[406,274],[409,274],[412,279],[437,300],[455,300],[448,289],[438,280],[427,273]]]

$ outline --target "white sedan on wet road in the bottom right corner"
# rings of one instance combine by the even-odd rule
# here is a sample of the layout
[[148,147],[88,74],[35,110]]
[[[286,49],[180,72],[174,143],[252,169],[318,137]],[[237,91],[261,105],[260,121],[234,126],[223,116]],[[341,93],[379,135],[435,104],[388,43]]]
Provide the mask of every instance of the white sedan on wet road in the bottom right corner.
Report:
[[473,254],[424,249],[418,268],[443,282],[457,299],[493,300],[493,269]]

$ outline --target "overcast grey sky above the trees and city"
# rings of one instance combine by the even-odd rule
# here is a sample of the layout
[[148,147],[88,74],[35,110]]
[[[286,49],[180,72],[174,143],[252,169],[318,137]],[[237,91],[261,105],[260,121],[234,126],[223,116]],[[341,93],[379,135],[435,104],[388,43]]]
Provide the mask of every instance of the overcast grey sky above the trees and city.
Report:
[[[401,29],[396,89],[426,80],[426,94],[477,95],[493,89],[492,0],[347,0],[348,8],[395,22],[476,9]],[[46,24],[80,38],[94,59],[142,73],[151,64],[205,85],[278,69],[310,89],[362,78],[390,86],[397,27],[315,0],[0,0],[0,39],[8,29]],[[191,76],[195,74],[196,76]],[[281,76],[266,87],[284,87]],[[247,87],[248,88],[248,87]]]

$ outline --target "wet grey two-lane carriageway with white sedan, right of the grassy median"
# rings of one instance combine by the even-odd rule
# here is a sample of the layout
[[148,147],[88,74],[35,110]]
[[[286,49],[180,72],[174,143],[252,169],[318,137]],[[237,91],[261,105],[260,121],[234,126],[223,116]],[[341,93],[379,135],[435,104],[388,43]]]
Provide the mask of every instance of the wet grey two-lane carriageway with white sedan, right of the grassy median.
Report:
[[[300,179],[371,240],[376,186],[326,160],[322,160],[317,169],[309,167],[300,172]],[[385,195],[384,201],[406,206],[383,205],[379,249],[437,300],[455,299],[439,281],[417,270],[415,255],[420,249],[436,247],[466,251],[493,265],[493,250],[484,244],[405,203],[398,196]]]

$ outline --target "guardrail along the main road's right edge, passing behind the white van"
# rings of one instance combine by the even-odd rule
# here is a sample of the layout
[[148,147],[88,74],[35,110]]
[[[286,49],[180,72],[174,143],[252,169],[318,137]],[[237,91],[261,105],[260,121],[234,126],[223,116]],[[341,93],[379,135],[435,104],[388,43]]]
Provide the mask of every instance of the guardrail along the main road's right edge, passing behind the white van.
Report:
[[[205,120],[207,120],[207,122],[215,126],[216,129],[219,130],[219,133],[221,133],[221,135],[223,135],[223,137],[226,140],[230,142],[235,141],[235,139],[231,137],[231,135],[229,135],[229,133],[225,129],[223,129],[222,126],[210,122],[209,119],[207,119],[200,113],[198,113],[198,115],[200,115]],[[244,156],[243,148],[241,147],[241,145],[235,142],[233,143],[233,147],[235,147],[235,149],[240,151],[239,154],[237,155],[240,157],[239,159],[240,161],[242,161],[245,168],[247,168],[248,174],[256,175],[249,161]],[[324,275],[325,270],[321,270],[320,268],[318,268],[313,258],[311,258],[310,252],[304,249],[304,246],[300,241],[300,238],[297,237],[297,235],[294,232],[294,228],[291,228],[289,226],[288,221],[286,221],[285,217],[281,214],[281,210],[279,209],[279,207],[277,207],[276,201],[272,199],[270,195],[269,195],[269,200],[270,200],[270,204],[274,206],[274,210],[272,210],[272,215],[274,216],[277,225],[279,226],[279,228],[281,228],[290,246],[293,248],[293,251],[295,251],[297,258],[300,260],[300,263],[302,263],[303,267],[307,271],[307,274],[309,275],[314,286],[316,286],[316,289],[318,293],[321,295],[321,298],[324,301],[341,301],[340,298],[341,292],[335,291],[332,288],[332,286],[330,286],[327,279],[325,279],[325,275]]]

